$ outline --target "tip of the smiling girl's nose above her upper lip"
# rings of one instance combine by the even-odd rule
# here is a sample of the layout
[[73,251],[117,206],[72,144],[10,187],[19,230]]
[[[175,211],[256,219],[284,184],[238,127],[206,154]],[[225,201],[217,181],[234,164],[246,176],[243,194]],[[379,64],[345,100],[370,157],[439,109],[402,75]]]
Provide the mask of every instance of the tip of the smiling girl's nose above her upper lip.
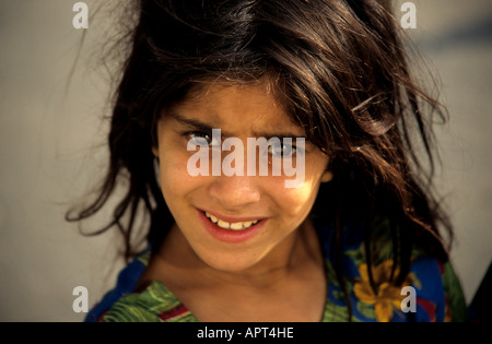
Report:
[[255,176],[218,176],[209,187],[209,194],[224,211],[239,211],[259,202],[257,181]]

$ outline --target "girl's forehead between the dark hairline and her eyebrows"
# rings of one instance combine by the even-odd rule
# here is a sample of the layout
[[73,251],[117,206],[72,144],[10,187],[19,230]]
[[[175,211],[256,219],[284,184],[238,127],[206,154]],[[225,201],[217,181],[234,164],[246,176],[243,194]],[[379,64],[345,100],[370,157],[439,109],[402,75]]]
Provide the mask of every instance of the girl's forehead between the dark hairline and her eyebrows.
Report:
[[195,86],[173,111],[231,132],[289,131],[303,137],[304,130],[292,120],[277,94],[267,82],[211,82]]

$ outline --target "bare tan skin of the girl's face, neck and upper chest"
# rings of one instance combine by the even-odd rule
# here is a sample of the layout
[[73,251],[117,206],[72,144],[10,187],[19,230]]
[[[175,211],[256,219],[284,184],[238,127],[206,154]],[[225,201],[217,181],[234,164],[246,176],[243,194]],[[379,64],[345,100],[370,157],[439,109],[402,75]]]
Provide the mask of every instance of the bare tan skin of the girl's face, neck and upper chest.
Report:
[[[167,111],[220,128],[245,147],[258,132],[304,137],[261,82],[211,83]],[[162,281],[201,321],[319,321],[326,277],[318,238],[306,217],[320,182],[332,177],[326,170],[328,157],[306,142],[305,181],[291,189],[284,181],[292,177],[247,176],[246,169],[245,176],[191,177],[186,168],[195,153],[187,151],[189,129],[166,112],[159,123],[154,154],[176,224],[144,280]],[[244,242],[223,242],[204,229],[197,209],[267,222]]]

